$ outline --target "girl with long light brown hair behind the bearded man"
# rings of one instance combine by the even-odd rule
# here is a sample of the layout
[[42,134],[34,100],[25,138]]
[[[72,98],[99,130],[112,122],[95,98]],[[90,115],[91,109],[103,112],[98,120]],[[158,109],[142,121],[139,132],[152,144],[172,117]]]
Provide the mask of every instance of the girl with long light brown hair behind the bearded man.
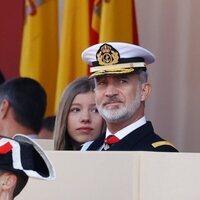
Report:
[[82,144],[95,140],[104,131],[94,97],[94,81],[87,77],[65,88],[54,128],[55,150],[80,150]]

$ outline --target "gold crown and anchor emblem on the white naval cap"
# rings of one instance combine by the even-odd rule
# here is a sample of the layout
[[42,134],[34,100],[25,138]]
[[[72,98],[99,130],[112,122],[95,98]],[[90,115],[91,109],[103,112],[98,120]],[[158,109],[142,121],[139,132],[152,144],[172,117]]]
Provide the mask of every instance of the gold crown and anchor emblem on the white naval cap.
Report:
[[103,44],[96,57],[99,65],[114,65],[119,62],[119,52],[109,44]]

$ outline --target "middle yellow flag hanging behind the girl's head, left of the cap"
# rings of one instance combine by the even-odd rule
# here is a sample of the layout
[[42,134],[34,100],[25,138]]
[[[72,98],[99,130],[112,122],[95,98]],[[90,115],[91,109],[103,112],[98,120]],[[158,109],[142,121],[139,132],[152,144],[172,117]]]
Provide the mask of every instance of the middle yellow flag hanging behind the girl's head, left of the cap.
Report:
[[64,1],[64,16],[56,90],[56,107],[63,89],[74,79],[87,75],[81,52],[89,45],[89,1]]

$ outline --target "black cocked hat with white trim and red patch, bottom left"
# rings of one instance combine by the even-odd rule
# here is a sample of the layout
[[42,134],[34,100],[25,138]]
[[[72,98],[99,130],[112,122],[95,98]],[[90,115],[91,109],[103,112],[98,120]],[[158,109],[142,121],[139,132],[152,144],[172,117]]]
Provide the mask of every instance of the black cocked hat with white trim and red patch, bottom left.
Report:
[[55,170],[44,150],[29,137],[0,136],[0,169],[28,177],[54,180]]

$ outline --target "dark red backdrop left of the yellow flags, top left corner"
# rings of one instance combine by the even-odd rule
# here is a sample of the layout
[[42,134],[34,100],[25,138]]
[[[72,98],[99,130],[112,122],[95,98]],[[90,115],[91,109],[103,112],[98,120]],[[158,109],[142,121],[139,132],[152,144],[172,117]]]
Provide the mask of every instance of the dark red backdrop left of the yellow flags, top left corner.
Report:
[[6,79],[19,76],[24,0],[1,1],[0,70]]

